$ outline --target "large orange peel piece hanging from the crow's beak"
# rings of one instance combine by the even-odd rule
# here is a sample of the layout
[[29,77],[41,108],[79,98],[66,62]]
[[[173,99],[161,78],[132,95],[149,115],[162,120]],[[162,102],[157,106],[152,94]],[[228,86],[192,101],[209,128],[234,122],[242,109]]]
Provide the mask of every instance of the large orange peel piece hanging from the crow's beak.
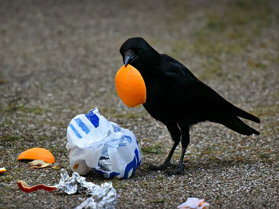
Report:
[[131,65],[123,65],[116,73],[115,87],[118,96],[128,107],[136,107],[146,101],[146,87],[140,72]]

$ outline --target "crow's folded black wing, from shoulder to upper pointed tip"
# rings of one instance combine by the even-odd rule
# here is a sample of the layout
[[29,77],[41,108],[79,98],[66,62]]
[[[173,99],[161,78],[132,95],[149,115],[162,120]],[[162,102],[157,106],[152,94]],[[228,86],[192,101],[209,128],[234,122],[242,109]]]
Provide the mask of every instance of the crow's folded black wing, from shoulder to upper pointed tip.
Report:
[[230,113],[254,122],[260,122],[257,117],[235,107],[216,91],[198,80],[180,62],[169,56],[165,60],[166,62],[162,62],[158,68],[161,71],[160,74],[164,76],[166,86],[170,87],[173,92],[173,100],[185,104],[190,109],[201,110],[212,113],[212,115]]

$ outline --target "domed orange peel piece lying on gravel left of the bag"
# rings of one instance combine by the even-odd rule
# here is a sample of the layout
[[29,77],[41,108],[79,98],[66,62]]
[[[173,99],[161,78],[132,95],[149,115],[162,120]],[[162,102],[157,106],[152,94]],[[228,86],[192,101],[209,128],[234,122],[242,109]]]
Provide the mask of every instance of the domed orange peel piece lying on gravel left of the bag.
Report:
[[17,158],[17,161],[20,160],[43,160],[46,163],[55,163],[53,154],[49,150],[39,147],[22,152]]

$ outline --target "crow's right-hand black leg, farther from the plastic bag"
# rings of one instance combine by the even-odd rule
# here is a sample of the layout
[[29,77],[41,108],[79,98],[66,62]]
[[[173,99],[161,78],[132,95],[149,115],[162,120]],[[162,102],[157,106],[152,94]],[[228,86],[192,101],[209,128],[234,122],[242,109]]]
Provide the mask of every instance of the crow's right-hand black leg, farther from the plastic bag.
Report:
[[177,166],[177,168],[174,171],[167,171],[166,174],[168,174],[168,176],[172,176],[172,175],[177,175],[177,174],[182,174],[184,175],[183,172],[183,158],[186,152],[186,149],[189,145],[190,142],[190,135],[189,135],[189,125],[188,124],[179,124],[180,126],[180,130],[181,130],[181,145],[182,145],[182,152],[181,152],[181,157],[180,157],[180,161],[179,164]]

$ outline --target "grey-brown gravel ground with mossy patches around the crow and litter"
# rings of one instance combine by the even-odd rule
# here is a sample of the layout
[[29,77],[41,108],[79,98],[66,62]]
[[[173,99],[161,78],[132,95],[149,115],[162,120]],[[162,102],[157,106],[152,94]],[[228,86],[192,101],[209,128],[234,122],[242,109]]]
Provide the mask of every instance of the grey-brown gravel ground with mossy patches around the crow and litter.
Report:
[[[211,208],[278,208],[278,1],[0,1],[0,208],[74,208],[85,194],[21,192],[16,180],[53,185],[60,171],[30,170],[17,156],[49,149],[68,172],[66,129],[77,114],[99,107],[130,129],[142,164],[113,180],[116,208],[176,208],[187,197]],[[118,98],[119,48],[143,37],[187,66],[224,98],[260,117],[246,137],[219,124],[191,130],[185,175],[149,170],[171,149],[170,135],[143,107]],[[178,161],[181,148],[173,161]],[[87,181],[108,180],[90,172]]]

